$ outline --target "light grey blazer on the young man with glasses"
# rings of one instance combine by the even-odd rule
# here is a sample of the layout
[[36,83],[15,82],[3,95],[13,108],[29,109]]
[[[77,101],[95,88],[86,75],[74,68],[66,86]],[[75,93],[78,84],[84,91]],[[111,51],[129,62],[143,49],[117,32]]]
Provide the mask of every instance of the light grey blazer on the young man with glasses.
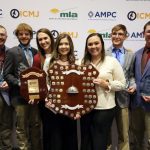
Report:
[[[125,49],[125,48],[124,48]],[[106,55],[112,56],[112,48],[110,47],[108,50],[106,50]],[[134,71],[133,71],[133,65],[134,65],[134,53],[132,51],[129,51],[125,49],[125,58],[124,58],[124,64],[122,66],[124,75],[126,78],[126,85],[127,86],[133,86],[135,85],[135,79],[134,79]],[[121,107],[125,108],[129,106],[130,103],[130,96],[129,94],[124,91],[118,91],[116,92],[116,104]]]

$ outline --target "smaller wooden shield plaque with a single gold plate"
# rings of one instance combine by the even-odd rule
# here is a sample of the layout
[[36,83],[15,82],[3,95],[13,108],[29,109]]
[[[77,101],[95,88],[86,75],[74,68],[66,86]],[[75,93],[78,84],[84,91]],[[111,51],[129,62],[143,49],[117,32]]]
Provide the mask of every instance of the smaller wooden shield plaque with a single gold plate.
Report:
[[46,73],[38,68],[28,68],[20,73],[20,93],[26,99],[45,100],[48,94]]

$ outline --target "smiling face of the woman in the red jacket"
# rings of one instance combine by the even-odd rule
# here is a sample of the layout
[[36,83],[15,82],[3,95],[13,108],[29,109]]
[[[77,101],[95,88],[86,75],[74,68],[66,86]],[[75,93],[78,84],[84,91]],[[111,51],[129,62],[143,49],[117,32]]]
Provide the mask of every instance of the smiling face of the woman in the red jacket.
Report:
[[38,43],[45,53],[51,52],[51,39],[48,34],[39,32],[37,35]]

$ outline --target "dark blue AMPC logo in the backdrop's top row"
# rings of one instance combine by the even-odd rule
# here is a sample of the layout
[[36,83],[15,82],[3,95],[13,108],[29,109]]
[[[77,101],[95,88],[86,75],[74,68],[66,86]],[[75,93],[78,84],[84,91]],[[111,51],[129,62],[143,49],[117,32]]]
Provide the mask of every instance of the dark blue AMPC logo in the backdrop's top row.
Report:
[[90,11],[88,13],[89,20],[115,20],[117,18],[117,12],[111,11]]

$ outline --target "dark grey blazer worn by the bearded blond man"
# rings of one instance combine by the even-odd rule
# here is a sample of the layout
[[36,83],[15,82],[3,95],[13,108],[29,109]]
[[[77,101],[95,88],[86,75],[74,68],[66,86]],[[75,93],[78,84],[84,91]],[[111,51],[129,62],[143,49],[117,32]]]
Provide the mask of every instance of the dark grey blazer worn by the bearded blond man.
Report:
[[[31,52],[34,56],[37,53],[37,50],[32,48]],[[27,68],[29,67],[24,51],[19,46],[9,49],[6,53],[4,63],[4,79],[10,87],[12,104],[26,103],[26,101],[20,96],[20,88],[18,84],[21,65],[24,65]]]

